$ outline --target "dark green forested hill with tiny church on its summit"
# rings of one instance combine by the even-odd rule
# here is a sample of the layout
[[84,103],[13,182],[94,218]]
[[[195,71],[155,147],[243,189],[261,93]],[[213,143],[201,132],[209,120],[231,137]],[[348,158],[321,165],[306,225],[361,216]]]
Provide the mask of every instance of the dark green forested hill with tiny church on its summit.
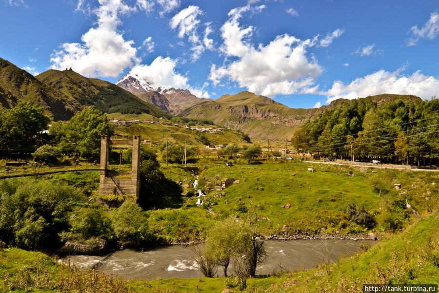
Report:
[[156,117],[169,117],[165,111],[115,84],[86,78],[72,70],[50,69],[36,78],[75,99],[80,105],[93,105],[104,113],[147,113]]

